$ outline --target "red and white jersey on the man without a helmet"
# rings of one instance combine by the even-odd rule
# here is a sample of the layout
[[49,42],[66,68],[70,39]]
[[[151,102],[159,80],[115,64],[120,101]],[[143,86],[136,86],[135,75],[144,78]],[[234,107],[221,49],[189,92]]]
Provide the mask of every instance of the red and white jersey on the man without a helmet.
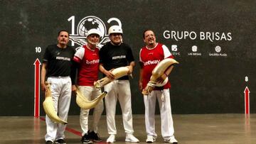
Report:
[[[152,71],[154,70],[154,67],[165,58],[174,58],[173,55],[171,55],[171,52],[166,47],[166,45],[163,45],[161,43],[156,43],[155,48],[149,49],[146,46],[144,46],[140,52],[139,52],[139,61],[142,62],[142,87],[143,89],[146,87],[146,84],[149,82],[150,77],[152,75]],[[155,87],[155,90],[159,89],[169,89],[171,87],[170,82],[167,82],[164,87]]]

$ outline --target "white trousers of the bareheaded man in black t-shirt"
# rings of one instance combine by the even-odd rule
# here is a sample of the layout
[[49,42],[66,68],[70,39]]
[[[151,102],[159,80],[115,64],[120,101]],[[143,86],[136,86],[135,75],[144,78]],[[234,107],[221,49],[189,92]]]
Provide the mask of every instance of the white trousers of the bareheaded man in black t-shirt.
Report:
[[[63,121],[68,121],[72,89],[70,77],[48,77],[47,81],[51,84],[50,91],[55,111],[58,111],[58,116]],[[46,141],[65,138],[65,126],[64,124],[54,123],[46,115]]]

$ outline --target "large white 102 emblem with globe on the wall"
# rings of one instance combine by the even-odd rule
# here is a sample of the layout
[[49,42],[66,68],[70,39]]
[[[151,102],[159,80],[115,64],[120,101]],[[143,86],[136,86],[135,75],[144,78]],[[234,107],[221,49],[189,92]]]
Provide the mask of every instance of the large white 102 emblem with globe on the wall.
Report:
[[[75,44],[80,46],[86,45],[87,32],[92,28],[95,28],[100,31],[100,43],[97,45],[99,48],[101,48],[105,43],[110,41],[110,38],[107,34],[107,28],[105,26],[105,23],[97,16],[86,16],[85,18],[82,18],[82,20],[80,20],[78,23],[76,33],[75,16],[70,16],[70,18],[68,18],[68,21],[71,21],[70,40],[73,46]],[[122,23],[118,18],[109,18],[107,23],[110,23],[112,21],[116,21],[118,26],[122,28]]]

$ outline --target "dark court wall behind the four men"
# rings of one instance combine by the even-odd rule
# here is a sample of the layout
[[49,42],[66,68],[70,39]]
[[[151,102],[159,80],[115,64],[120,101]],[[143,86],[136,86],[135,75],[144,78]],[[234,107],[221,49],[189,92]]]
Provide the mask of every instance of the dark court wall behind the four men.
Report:
[[[137,60],[131,79],[133,113],[144,113],[138,89],[138,60],[146,28],[153,29],[157,40],[180,62],[169,77],[173,113],[244,113],[245,87],[250,89],[250,112],[256,112],[255,1],[0,2],[0,116],[33,116],[33,63],[36,58],[42,60],[47,45],[56,43],[60,29],[71,33],[72,23],[68,21],[71,16],[75,16],[73,34],[77,34],[78,23],[87,16],[100,18],[107,29],[117,24],[107,23],[110,18],[118,18],[122,23],[124,43],[132,47]],[[164,31],[173,31],[176,36],[169,38]],[[191,37],[181,33],[189,33]],[[210,38],[200,33],[210,33]],[[177,45],[177,49],[171,45]],[[191,49],[193,45],[198,47],[196,52]],[[217,45],[221,48],[218,52]],[[36,52],[36,47],[42,51]],[[74,96],[70,115],[78,113]],[[44,115],[42,108],[41,115]]]

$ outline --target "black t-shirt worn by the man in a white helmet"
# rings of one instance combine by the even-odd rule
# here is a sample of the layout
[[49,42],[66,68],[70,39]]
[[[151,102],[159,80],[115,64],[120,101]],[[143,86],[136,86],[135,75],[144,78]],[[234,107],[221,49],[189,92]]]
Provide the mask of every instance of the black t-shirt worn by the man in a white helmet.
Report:
[[[106,70],[125,67],[132,61],[134,61],[132,49],[125,43],[112,45],[109,42],[100,49],[100,63],[102,63]],[[124,76],[119,79],[129,79],[129,77]]]

